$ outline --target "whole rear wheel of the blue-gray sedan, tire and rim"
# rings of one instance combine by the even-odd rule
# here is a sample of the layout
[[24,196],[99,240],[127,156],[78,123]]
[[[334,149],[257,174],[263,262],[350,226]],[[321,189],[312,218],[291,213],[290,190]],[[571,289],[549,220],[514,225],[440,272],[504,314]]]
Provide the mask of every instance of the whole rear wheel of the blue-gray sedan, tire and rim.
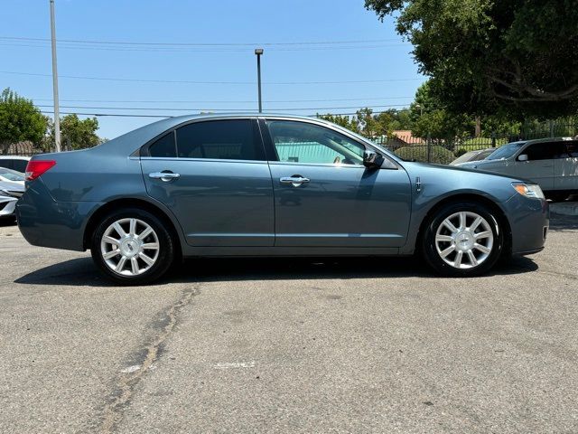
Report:
[[174,259],[174,242],[163,222],[138,208],[108,214],[98,223],[90,250],[107,278],[123,285],[160,278]]

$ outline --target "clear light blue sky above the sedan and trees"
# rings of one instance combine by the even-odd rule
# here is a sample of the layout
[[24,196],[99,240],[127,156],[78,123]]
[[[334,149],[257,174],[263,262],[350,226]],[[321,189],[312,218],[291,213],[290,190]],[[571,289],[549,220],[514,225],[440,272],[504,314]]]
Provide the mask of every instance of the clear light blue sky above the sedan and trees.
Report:
[[[2,0],[0,89],[49,116],[49,0]],[[424,82],[412,46],[363,0],[55,0],[62,113],[114,138],[158,118],[256,110],[354,113],[409,105]],[[81,116],[86,118],[86,116]]]

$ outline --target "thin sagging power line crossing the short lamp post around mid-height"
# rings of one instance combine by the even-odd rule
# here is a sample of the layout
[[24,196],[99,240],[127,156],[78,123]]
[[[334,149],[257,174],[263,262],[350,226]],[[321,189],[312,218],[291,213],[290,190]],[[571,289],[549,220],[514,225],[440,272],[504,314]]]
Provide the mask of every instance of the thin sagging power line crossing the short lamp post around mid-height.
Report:
[[[17,72],[17,71],[0,71],[3,74],[13,75],[28,75],[33,77],[51,77],[51,74],[41,74],[35,72]],[[105,80],[105,81],[129,81],[129,82],[144,82],[144,83],[178,83],[178,84],[241,84],[241,85],[255,85],[253,81],[197,81],[197,80],[151,80],[151,79],[121,79],[112,77],[89,77],[79,75],[59,75],[61,79],[77,79],[77,80]],[[387,80],[337,80],[337,81],[266,81],[269,85],[302,85],[302,84],[363,84],[363,83],[384,83],[384,82],[398,82],[398,81],[415,81],[422,79],[387,79]]]

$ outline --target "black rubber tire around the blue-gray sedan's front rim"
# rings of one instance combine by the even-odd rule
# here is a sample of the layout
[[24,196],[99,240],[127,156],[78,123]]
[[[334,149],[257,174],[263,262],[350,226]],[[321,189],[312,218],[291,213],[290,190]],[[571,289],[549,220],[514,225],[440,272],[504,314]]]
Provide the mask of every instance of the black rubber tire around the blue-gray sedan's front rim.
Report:
[[[488,223],[489,229],[491,230],[493,236],[491,251],[489,252],[488,256],[483,259],[479,265],[472,266],[471,268],[467,269],[457,269],[454,268],[454,266],[448,264],[442,258],[441,254],[436,248],[435,238],[438,228],[441,227],[445,219],[457,212],[474,212],[478,214]],[[452,245],[452,242],[448,242],[448,246],[449,245]],[[457,245],[457,243],[454,245]],[[504,250],[504,229],[500,227],[499,218],[494,215],[494,212],[481,203],[449,203],[444,205],[441,209],[437,210],[431,217],[429,217],[429,220],[426,222],[424,229],[421,248],[425,261],[438,274],[456,278],[480,276],[481,274],[484,274],[489,269],[491,269],[496,261],[500,258]],[[478,250],[476,251],[478,252]],[[457,260],[454,260],[454,263],[455,262],[457,262]],[[469,259],[468,262],[471,264]]]

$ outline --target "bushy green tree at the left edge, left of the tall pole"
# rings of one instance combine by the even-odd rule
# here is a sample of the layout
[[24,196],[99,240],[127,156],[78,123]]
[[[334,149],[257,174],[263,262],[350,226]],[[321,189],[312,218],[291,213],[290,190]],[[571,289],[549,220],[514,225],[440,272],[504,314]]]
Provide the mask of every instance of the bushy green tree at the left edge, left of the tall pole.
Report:
[[31,141],[39,144],[46,133],[46,118],[33,101],[5,89],[0,95],[0,153],[7,154],[10,145]]

